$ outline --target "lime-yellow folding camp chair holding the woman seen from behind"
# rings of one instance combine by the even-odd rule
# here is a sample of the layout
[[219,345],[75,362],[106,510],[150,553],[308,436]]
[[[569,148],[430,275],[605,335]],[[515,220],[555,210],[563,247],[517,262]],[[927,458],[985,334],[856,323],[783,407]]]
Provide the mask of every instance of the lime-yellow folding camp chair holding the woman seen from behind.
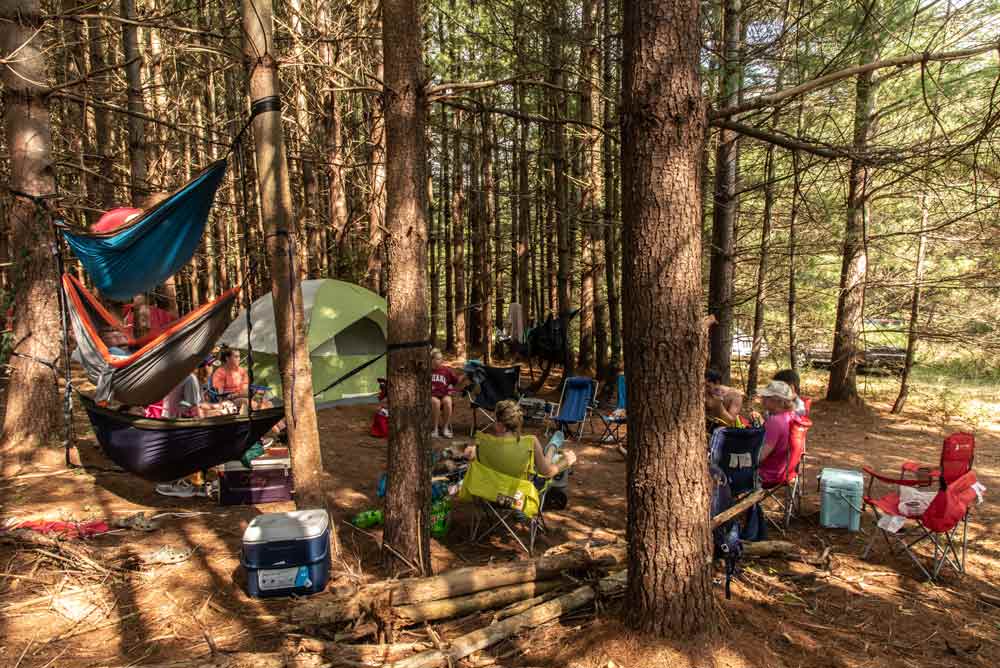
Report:
[[[534,439],[484,433],[475,438],[476,458],[469,464],[458,494],[460,500],[476,504],[472,540],[480,541],[505,529],[530,555],[538,532],[545,531],[542,507],[551,483],[535,471]],[[485,524],[488,526],[483,529]],[[523,526],[528,531],[527,545],[517,534],[517,528]]]

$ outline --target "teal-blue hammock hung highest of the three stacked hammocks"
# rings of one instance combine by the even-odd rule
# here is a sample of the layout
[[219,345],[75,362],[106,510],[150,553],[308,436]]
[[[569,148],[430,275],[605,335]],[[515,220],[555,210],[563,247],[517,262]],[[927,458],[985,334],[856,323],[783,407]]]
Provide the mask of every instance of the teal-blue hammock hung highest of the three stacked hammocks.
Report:
[[102,296],[127,301],[149,292],[191,260],[225,171],[225,160],[213,162],[170,197],[111,232],[60,224],[66,243]]

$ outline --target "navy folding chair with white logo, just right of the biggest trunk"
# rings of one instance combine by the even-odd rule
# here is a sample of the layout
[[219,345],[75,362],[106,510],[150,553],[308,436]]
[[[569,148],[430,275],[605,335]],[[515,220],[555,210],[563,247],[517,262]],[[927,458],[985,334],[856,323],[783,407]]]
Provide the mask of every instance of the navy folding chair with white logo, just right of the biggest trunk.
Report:
[[[757,467],[764,447],[764,430],[720,427],[712,434],[709,461],[726,476],[733,503],[760,489]],[[765,533],[759,504],[750,509],[740,531],[745,540],[760,540]]]

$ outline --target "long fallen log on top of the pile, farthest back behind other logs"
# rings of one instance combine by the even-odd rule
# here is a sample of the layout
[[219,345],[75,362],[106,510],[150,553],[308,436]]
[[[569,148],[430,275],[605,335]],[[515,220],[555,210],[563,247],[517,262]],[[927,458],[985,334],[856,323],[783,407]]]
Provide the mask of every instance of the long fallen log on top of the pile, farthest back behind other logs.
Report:
[[613,568],[623,565],[625,559],[625,545],[614,544],[537,559],[459,568],[428,578],[375,582],[347,597],[313,598],[293,607],[290,616],[292,622],[302,625],[344,622],[356,619],[376,602],[405,606],[451,599],[506,585],[550,580],[568,570]]

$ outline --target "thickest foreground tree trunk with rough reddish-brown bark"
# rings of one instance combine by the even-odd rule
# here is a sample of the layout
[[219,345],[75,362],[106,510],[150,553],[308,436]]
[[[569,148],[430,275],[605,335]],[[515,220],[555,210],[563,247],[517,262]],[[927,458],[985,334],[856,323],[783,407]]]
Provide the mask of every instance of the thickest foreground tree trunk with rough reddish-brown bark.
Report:
[[[622,109],[628,369],[626,622],[661,636],[714,628],[703,443],[696,0],[626,0]],[[669,397],[668,397],[669,395]]]

